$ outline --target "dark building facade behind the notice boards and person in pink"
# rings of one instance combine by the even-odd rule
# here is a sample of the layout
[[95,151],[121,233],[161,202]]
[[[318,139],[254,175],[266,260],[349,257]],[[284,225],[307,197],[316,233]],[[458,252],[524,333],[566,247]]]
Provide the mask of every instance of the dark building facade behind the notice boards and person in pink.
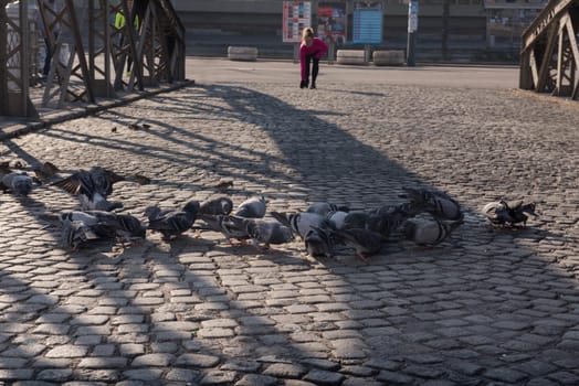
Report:
[[[448,4],[445,7],[445,1]],[[172,0],[193,40],[235,42],[267,49],[274,53],[290,52],[282,43],[281,0]],[[312,1],[313,26],[319,3],[346,3],[348,25],[355,0]],[[547,0],[420,0],[418,24],[419,56],[452,58],[480,56],[481,60],[506,58],[517,61],[520,34],[530,24]],[[375,49],[404,49],[408,31],[408,0],[383,0],[382,42]],[[346,47],[351,44],[348,29]],[[198,36],[198,37],[196,37]],[[197,41],[203,45],[202,41]]]

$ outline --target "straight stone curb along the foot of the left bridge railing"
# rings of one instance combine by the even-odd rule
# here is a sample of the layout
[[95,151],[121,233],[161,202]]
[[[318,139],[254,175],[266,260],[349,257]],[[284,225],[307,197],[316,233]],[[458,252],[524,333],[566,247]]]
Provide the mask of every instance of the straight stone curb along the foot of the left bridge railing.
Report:
[[40,121],[27,122],[27,124],[13,124],[12,126],[10,126],[9,124],[8,127],[1,129],[0,141],[17,138],[17,137],[30,133],[30,132],[39,131],[52,125],[62,124],[71,119],[78,119],[78,118],[87,117],[91,115],[95,115],[99,111],[104,111],[110,108],[125,106],[134,101],[137,101],[139,99],[148,98],[148,97],[165,94],[165,93],[171,93],[180,88],[189,87],[192,85],[194,85],[193,79],[183,81],[177,85],[171,85],[169,87],[161,88],[161,89],[156,89],[152,92],[149,92],[149,90],[139,92],[139,94],[137,95],[130,94],[120,99],[105,99],[101,104],[87,105],[87,106],[81,107],[81,109],[78,110],[59,111],[59,112],[53,114],[53,116],[51,117],[41,119]]

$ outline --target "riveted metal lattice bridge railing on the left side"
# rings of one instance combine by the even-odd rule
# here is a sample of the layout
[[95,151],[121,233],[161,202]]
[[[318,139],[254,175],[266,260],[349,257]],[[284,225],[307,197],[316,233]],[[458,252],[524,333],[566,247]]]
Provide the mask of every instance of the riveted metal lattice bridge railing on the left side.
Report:
[[[1,92],[18,98],[10,98],[0,115],[33,117],[42,107],[94,104],[98,97],[185,79],[185,28],[168,0],[135,0],[130,8],[127,0],[20,0],[18,7],[18,22],[11,21],[18,43],[7,45],[9,60],[0,63],[9,73]],[[13,76],[31,73],[31,23],[41,26],[35,39],[41,45],[46,39],[51,58],[49,73],[32,93],[41,96],[34,98],[31,83],[38,74],[32,82]],[[18,71],[9,71],[15,62]]]

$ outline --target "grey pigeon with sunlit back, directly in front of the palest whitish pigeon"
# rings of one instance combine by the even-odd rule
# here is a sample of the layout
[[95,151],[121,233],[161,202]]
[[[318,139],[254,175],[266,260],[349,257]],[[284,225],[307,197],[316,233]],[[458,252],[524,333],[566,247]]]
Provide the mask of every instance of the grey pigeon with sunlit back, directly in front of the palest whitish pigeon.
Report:
[[292,229],[276,221],[239,216],[230,216],[230,221],[236,228],[246,232],[257,249],[262,249],[260,244],[264,244],[265,248],[270,248],[271,244],[285,244],[294,239]]

